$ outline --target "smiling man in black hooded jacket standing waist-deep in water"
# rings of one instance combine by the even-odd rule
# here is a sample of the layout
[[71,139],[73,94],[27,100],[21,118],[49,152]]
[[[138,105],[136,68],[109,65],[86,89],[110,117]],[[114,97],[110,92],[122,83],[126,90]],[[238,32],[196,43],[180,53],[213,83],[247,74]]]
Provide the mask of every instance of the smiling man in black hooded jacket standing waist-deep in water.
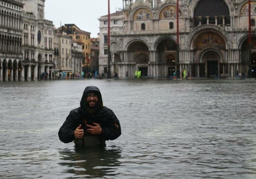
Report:
[[74,141],[82,147],[105,146],[106,140],[121,135],[121,127],[115,113],[103,106],[99,88],[87,86],[80,107],[70,111],[58,135],[64,143]]

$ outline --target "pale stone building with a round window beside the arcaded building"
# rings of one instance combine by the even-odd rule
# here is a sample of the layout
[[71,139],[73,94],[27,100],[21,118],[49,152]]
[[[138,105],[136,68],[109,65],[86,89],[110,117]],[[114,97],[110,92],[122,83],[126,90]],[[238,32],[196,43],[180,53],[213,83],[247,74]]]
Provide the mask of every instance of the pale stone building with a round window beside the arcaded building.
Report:
[[[25,81],[52,78],[54,25],[44,19],[45,0],[23,0],[22,73]],[[47,76],[43,76],[47,72]]]

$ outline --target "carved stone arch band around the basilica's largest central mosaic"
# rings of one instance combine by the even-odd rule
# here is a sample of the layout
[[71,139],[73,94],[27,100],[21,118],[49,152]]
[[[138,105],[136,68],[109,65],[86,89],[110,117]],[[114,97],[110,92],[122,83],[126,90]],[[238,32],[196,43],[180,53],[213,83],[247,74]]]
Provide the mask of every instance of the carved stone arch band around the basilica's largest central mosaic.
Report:
[[220,35],[225,41],[225,48],[226,49],[231,48],[231,39],[230,39],[229,35],[227,34],[227,32],[224,31],[221,27],[216,26],[216,25],[202,25],[202,26],[196,27],[189,34],[189,37],[187,39],[187,49],[193,50],[193,43],[194,43],[194,40],[196,39],[196,37],[198,36],[198,34],[200,34],[203,31],[207,31],[207,30],[213,31],[213,32],[217,33],[218,35]]

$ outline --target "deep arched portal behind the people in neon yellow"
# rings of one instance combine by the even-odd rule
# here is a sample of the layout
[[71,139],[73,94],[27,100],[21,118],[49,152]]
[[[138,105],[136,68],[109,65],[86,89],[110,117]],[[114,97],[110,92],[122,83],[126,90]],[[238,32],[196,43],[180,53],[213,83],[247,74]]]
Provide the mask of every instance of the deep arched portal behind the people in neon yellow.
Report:
[[[149,62],[149,51],[146,44],[141,41],[135,41],[131,43],[127,48],[128,54],[131,52],[132,56],[129,56],[128,61],[135,62],[135,69],[130,70],[132,74],[129,76],[134,76],[135,71],[141,71],[141,77],[148,76],[148,62]],[[129,69],[128,69],[129,72]]]

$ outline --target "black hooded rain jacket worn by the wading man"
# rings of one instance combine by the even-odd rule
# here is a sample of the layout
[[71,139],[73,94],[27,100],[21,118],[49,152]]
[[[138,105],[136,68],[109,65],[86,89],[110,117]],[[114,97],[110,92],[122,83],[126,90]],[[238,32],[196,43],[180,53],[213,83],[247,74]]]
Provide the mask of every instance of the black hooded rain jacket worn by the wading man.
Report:
[[[86,96],[89,93],[98,94],[98,104],[96,106],[97,111],[93,114],[89,114],[86,110]],[[81,124],[82,129],[89,129],[86,124],[93,125],[93,123],[100,124],[102,132],[100,135],[92,135],[85,133],[84,138],[101,138],[103,143],[105,140],[114,140],[121,135],[121,127],[119,120],[117,119],[115,113],[110,110],[108,107],[103,106],[101,93],[98,87],[96,86],[87,86],[84,89],[82,99],[80,101],[80,107],[70,111],[69,115],[66,118],[66,121],[61,126],[58,135],[62,142],[68,143],[74,141],[76,144],[81,144],[86,142],[84,139],[75,139],[74,131]],[[82,142],[81,142],[82,141]]]

